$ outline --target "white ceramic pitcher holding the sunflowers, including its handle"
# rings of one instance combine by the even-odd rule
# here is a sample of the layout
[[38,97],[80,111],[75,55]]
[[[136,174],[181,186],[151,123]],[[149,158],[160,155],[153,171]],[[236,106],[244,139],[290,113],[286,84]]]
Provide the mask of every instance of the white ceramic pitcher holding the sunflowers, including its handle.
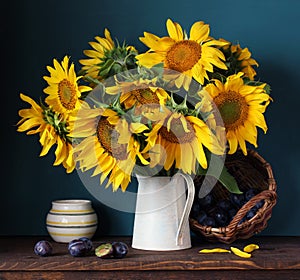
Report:
[[137,179],[132,247],[155,251],[190,248],[189,213],[195,193],[192,178],[177,173]]

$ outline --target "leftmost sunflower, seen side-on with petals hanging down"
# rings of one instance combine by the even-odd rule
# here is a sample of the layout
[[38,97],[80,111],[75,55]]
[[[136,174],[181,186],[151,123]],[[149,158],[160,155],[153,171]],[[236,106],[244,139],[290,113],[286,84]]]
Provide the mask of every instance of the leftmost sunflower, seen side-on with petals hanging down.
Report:
[[75,168],[73,147],[67,137],[69,129],[62,115],[53,112],[50,108],[42,108],[24,94],[20,94],[20,97],[29,103],[31,108],[19,110],[19,116],[22,119],[17,123],[17,131],[27,131],[29,135],[39,133],[39,141],[43,147],[40,156],[45,156],[50,148],[56,144],[56,159],[53,165],[62,164],[67,173],[71,173]]

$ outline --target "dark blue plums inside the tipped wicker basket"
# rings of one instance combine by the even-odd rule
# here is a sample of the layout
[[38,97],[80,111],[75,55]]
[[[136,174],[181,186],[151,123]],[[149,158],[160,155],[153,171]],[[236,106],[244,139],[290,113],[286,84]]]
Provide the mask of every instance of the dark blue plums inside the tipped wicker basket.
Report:
[[[230,193],[228,198],[218,201],[214,199],[211,193],[201,199],[195,197],[191,217],[203,226],[225,227],[231,222],[238,210],[258,192],[257,189],[250,188],[242,194]],[[253,218],[257,210],[263,205],[264,200],[257,202],[239,223]]]

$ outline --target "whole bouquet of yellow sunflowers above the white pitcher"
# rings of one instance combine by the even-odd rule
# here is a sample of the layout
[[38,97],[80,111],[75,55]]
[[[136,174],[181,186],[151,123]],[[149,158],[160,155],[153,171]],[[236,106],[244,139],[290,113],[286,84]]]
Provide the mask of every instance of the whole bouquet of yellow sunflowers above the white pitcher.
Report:
[[114,191],[134,174],[198,174],[212,156],[246,155],[257,127],[267,131],[271,101],[269,85],[255,80],[258,63],[202,21],[189,35],[171,19],[166,28],[164,37],[144,33],[144,53],[105,29],[78,72],[70,57],[54,59],[44,101],[20,94],[31,107],[19,110],[18,131],[39,135],[40,156],[55,149],[53,165],[92,170]]

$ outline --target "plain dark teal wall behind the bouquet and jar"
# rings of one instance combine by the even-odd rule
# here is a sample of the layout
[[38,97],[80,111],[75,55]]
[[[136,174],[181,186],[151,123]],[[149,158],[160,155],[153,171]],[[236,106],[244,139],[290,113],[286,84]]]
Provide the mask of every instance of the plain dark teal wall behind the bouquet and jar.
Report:
[[46,65],[64,55],[74,62],[83,58],[88,42],[102,36],[105,27],[119,41],[144,51],[138,37],[144,31],[166,35],[167,18],[187,31],[195,21],[205,21],[212,36],[239,42],[259,62],[258,76],[271,85],[274,102],[265,115],[269,131],[259,135],[258,152],[271,163],[278,184],[278,203],[262,234],[300,234],[299,1],[28,0],[8,5],[1,9],[0,26],[1,235],[46,234],[51,201],[61,198],[91,199],[99,215],[98,234],[132,234],[133,214],[100,203],[76,172],[67,175],[52,166],[53,152],[39,158],[37,136],[16,132],[18,110],[26,106],[19,93],[38,100],[46,86]]

